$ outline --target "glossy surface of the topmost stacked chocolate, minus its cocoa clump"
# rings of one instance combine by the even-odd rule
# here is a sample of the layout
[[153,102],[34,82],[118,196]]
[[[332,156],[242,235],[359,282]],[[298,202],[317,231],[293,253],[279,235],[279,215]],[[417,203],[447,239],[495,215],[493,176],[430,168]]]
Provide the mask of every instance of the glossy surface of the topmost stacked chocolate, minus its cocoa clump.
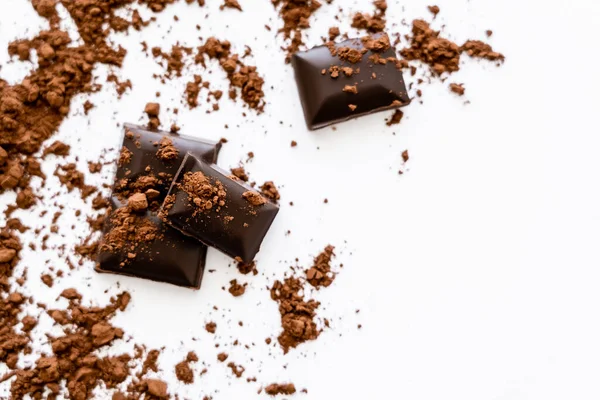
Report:
[[[213,207],[198,212],[196,205],[190,202],[188,194],[180,189],[179,184],[184,175],[187,172],[198,171],[211,182],[219,181],[223,185],[226,192],[225,204],[219,211],[217,207]],[[190,154],[184,160],[169,191],[169,198],[173,196],[172,206],[170,208],[167,206],[169,203],[167,199],[161,210],[161,216],[164,216],[167,223],[186,235],[249,263],[260,250],[261,243],[279,207],[268,200],[259,206],[251,205],[242,197],[248,191],[256,192],[243,182],[231,179],[227,172]]]

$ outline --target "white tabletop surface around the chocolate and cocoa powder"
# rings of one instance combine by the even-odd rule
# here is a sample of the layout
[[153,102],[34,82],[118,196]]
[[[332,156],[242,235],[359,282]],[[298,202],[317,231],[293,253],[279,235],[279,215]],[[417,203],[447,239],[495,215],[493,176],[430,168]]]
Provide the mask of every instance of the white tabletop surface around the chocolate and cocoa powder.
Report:
[[[393,129],[378,114],[314,133],[305,129],[292,70],[283,64],[283,53],[274,51],[282,42],[275,36],[280,20],[270,2],[241,0],[244,13],[219,12],[219,1],[209,3],[214,4],[205,9],[169,6],[142,33],[114,35],[129,50],[118,75],[131,79],[133,90],[117,102],[114,89],[105,85],[91,96],[97,107],[89,117],[77,105],[85,98],[76,99],[56,138],[73,145],[71,158],[79,155],[83,168],[102,149],[118,146],[116,122],[136,122],[156,91],[162,93],[163,125],[170,126],[167,107],[173,107],[170,99],[180,102],[187,80],[165,86],[152,79],[161,69],[141,53],[142,40],[150,47],[177,41],[197,46],[194,27],[200,23],[204,38],[227,38],[240,52],[250,45],[252,61],[266,79],[265,114],[256,117],[241,103],[223,99],[221,111],[212,114],[204,112],[206,105],[190,111],[178,104],[177,122],[186,134],[227,137],[222,167],[253,151],[251,178],[281,186],[282,210],[258,257],[261,274],[241,277],[225,256],[211,251],[208,268],[215,272],[206,274],[199,292],[97,275],[90,265],[47,289],[37,277],[52,254],[25,250],[27,293],[52,304],[63,288],[76,286],[88,301],[105,303],[105,291],[129,290],[133,302],[115,324],[137,343],[166,346],[159,375],[169,381],[171,393],[184,398],[264,398],[256,394],[261,384],[291,381],[308,389],[296,395],[307,399],[598,399],[600,3],[439,0],[436,27],[445,24],[446,35],[459,43],[484,38],[492,29],[490,42],[506,55],[505,65],[464,57],[450,81],[465,83],[465,99],[450,93],[447,83],[425,86],[424,104],[406,108]],[[403,19],[431,18],[421,1],[388,3],[392,32],[407,32]],[[320,43],[336,23],[341,4],[337,0],[317,12],[309,45]],[[351,13],[373,11],[370,1],[344,1],[343,7],[342,31],[351,34]],[[180,18],[175,25],[174,15]],[[27,1],[3,4],[0,61],[5,64],[9,41],[32,36],[44,25]],[[13,81],[25,68],[9,64],[0,74]],[[97,69],[99,77],[105,74],[106,68]],[[227,87],[218,68],[209,80],[213,88]],[[203,92],[200,98],[205,97]],[[471,104],[464,105],[467,99]],[[290,147],[291,140],[298,141],[297,148]],[[399,176],[405,149],[409,170]],[[44,166],[49,175],[56,162]],[[65,214],[79,207],[78,197],[61,197]],[[5,195],[0,204],[12,198]],[[71,220],[63,217],[61,224],[68,227]],[[76,241],[64,238],[70,246]],[[332,329],[283,356],[264,343],[279,329],[277,305],[265,288],[296,257],[307,266],[328,243],[344,264],[335,283],[316,294],[323,303],[319,316],[329,318]],[[249,283],[240,298],[221,289],[233,278]],[[211,320],[218,324],[216,337],[203,328]],[[49,318],[43,325],[50,325]],[[40,343],[46,329],[36,329]],[[235,339],[255,346],[234,347]],[[116,347],[111,352],[131,343]],[[210,368],[196,384],[183,386],[173,365],[189,350]],[[233,378],[216,362],[220,351],[246,367],[244,378],[256,376],[258,382]],[[0,398],[7,390],[0,385]],[[98,393],[105,398],[106,392]]]

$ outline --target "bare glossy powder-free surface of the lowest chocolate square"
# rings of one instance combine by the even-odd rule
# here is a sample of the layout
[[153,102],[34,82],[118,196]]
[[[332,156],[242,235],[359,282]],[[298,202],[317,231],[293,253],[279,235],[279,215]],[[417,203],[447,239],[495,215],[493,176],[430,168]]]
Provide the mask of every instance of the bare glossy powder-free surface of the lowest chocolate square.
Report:
[[[121,204],[113,198],[111,206],[116,209]],[[157,238],[141,245],[134,259],[128,258],[127,249],[100,251],[96,271],[199,289],[206,262],[206,246],[164,224],[156,213],[147,211],[142,218],[147,218],[158,228]],[[109,216],[105,233],[110,229]]]

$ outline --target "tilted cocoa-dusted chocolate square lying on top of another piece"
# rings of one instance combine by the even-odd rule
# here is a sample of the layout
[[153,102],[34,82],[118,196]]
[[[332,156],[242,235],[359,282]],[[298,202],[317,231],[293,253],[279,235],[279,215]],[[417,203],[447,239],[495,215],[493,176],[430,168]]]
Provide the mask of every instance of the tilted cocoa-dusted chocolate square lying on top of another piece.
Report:
[[252,187],[188,154],[159,215],[186,235],[249,263],[278,211]]

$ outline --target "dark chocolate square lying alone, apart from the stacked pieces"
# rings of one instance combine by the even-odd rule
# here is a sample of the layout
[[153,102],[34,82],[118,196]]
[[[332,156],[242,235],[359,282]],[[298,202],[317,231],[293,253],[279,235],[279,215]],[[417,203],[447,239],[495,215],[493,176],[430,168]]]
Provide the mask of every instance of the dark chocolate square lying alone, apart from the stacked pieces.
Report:
[[385,34],[294,54],[292,66],[308,128],[409,104],[397,61]]

